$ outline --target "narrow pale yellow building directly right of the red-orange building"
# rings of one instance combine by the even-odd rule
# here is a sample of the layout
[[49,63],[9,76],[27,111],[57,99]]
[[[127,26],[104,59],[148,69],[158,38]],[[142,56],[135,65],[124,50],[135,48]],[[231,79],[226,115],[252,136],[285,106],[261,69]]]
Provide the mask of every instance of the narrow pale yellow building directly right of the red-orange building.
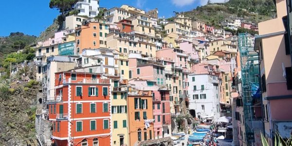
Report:
[[111,146],[129,146],[127,92],[127,82],[120,82],[119,77],[111,79]]

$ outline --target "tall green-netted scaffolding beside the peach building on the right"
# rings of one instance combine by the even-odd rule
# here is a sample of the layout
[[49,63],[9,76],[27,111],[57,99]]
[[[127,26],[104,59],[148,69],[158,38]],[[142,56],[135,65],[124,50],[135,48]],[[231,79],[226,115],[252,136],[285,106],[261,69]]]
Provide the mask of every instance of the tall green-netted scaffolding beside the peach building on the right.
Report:
[[255,86],[259,86],[259,61],[258,54],[254,51],[253,41],[250,41],[250,34],[244,33],[238,35],[238,49],[240,53],[241,65],[241,84],[243,101],[243,119],[245,122],[245,139],[247,146],[254,146],[255,136],[253,121],[255,112],[253,108],[253,95],[255,95]]

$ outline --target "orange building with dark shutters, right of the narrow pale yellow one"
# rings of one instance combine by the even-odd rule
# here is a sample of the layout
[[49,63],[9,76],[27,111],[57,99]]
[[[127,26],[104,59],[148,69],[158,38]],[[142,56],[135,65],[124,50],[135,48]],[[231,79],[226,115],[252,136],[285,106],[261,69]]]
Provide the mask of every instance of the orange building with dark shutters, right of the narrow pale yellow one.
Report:
[[130,91],[128,93],[128,133],[129,146],[141,141],[154,139],[154,126],[146,128],[145,121],[153,119],[151,91]]

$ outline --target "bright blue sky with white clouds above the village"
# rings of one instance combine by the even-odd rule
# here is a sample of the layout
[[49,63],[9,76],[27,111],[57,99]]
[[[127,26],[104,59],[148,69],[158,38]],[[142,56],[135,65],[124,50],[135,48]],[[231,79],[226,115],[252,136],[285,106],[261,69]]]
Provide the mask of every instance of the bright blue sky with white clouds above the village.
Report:
[[[3,0],[1,1],[0,36],[9,36],[11,32],[23,32],[39,36],[41,31],[53,23],[59,15],[56,9],[49,8],[50,0]],[[220,2],[224,0],[211,0]],[[159,17],[169,18],[173,11],[182,12],[204,5],[207,0],[100,0],[100,7],[112,8],[128,4],[143,10],[158,8]],[[7,12],[7,13],[3,13]]]

